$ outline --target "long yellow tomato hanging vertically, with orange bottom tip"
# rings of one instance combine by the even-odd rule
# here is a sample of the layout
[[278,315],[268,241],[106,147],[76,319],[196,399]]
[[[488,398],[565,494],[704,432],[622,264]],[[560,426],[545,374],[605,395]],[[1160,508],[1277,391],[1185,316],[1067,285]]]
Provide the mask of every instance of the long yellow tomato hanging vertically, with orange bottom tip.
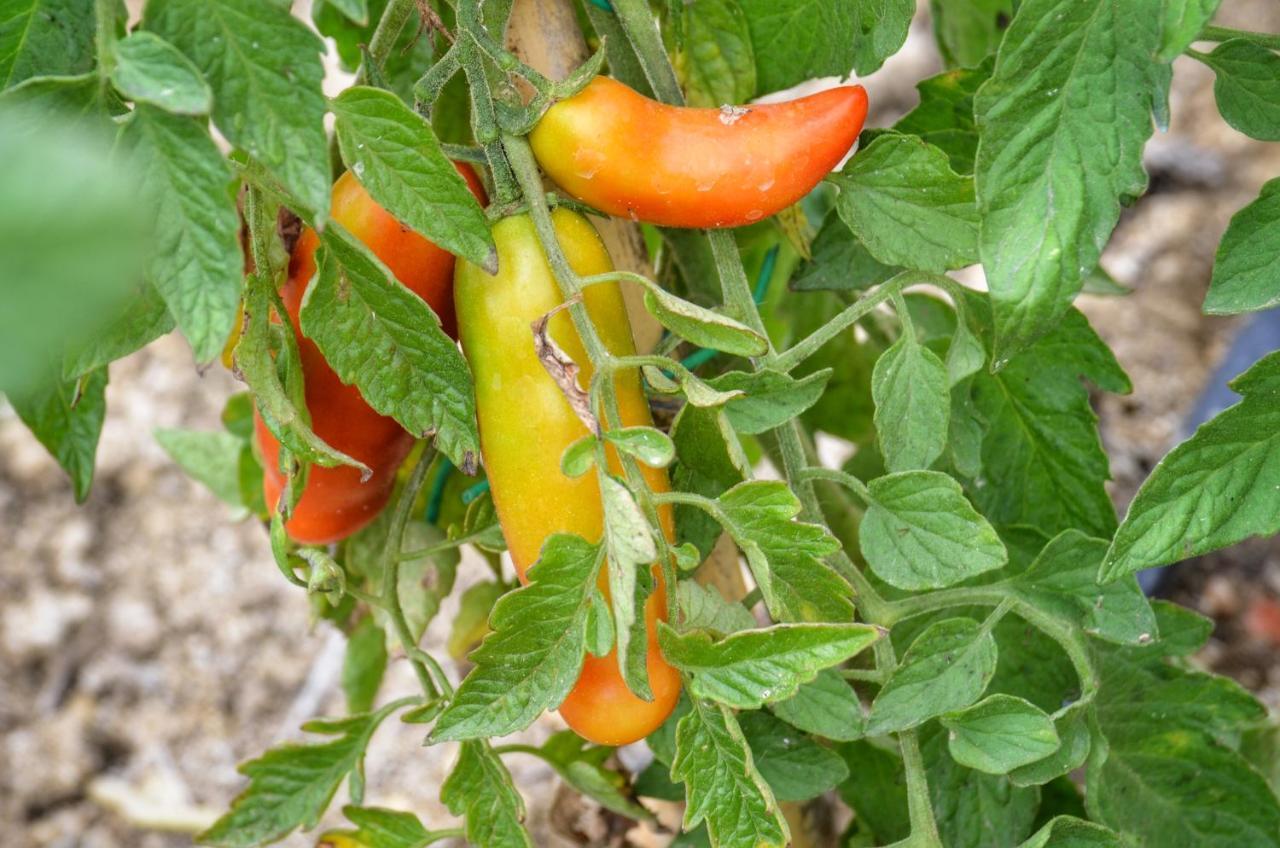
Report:
[[[595,228],[581,215],[557,209],[556,233],[573,270],[602,274],[613,264]],[[543,542],[553,533],[575,533],[596,542],[604,529],[600,487],[595,474],[568,478],[561,473],[564,448],[586,436],[586,427],[570,407],[534,350],[530,324],[563,302],[547,264],[532,220],[506,218],[493,228],[498,246],[498,274],[490,277],[470,263],[460,263],[454,284],[458,334],[476,384],[480,453],[502,523],[507,547],[521,579],[538,560]],[[616,284],[591,286],[585,292],[588,313],[611,352],[635,352],[622,293]],[[567,311],[548,325],[550,337],[582,366],[580,383],[591,368]],[[652,424],[640,375],[616,377],[618,406],[627,427]],[[611,465],[620,469],[617,456]],[[649,487],[669,488],[667,473],[641,466]],[[668,538],[673,537],[669,510],[662,514]],[[612,567],[612,566],[608,566]],[[645,603],[648,670],[654,699],[644,701],[627,689],[617,656],[588,655],[573,690],[561,705],[561,715],[582,737],[600,744],[635,742],[660,725],[680,697],[680,674],[662,658],[657,621],[666,619],[666,591],[655,566],[658,589]],[[608,583],[602,574],[600,588]]]

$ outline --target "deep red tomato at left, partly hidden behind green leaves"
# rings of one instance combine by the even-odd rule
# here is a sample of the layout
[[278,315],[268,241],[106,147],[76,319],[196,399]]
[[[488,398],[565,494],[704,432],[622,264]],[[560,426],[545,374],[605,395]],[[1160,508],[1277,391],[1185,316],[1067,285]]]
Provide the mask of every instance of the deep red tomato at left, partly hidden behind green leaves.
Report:
[[[472,193],[484,202],[484,188],[470,165],[457,165]],[[362,241],[399,282],[425,300],[449,336],[457,332],[453,315],[453,255],[436,247],[378,205],[351,172],[333,187],[333,219]],[[329,368],[315,342],[302,336],[298,311],[302,296],[315,275],[315,252],[320,240],[312,229],[303,231],[289,257],[289,277],[280,288],[289,320],[298,336],[302,374],[306,383],[311,429],[339,451],[370,468],[361,482],[360,470],[339,465],[312,465],[307,484],[284,528],[297,542],[324,544],[335,542],[369,524],[387,505],[396,483],[396,469],[413,447],[413,437],[394,419],[375,412],[360,389],[344,384]],[[284,485],[279,471],[280,444],[262,423],[253,420],[262,453],[262,489],[269,509],[274,509]]]

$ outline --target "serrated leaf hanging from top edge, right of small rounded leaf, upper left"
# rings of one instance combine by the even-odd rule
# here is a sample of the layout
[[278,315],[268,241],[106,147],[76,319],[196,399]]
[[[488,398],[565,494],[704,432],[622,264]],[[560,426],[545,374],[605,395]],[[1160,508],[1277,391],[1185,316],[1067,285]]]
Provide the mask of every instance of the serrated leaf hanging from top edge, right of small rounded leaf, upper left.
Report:
[[284,183],[303,206],[294,211],[321,223],[330,173],[319,36],[262,0],[151,0],[142,26],[196,63],[227,140]]

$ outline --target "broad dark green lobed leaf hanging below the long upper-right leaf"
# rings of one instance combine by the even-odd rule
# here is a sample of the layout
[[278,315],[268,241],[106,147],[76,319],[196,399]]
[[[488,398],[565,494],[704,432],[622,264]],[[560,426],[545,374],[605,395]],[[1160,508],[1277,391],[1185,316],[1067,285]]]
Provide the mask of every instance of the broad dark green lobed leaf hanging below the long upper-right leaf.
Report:
[[972,488],[970,497],[992,524],[1025,524],[1048,534],[1075,528],[1097,537],[1115,530],[1107,455],[1082,375],[1110,392],[1129,391],[1115,356],[1071,310],[1004,370],[974,377],[988,484]]

